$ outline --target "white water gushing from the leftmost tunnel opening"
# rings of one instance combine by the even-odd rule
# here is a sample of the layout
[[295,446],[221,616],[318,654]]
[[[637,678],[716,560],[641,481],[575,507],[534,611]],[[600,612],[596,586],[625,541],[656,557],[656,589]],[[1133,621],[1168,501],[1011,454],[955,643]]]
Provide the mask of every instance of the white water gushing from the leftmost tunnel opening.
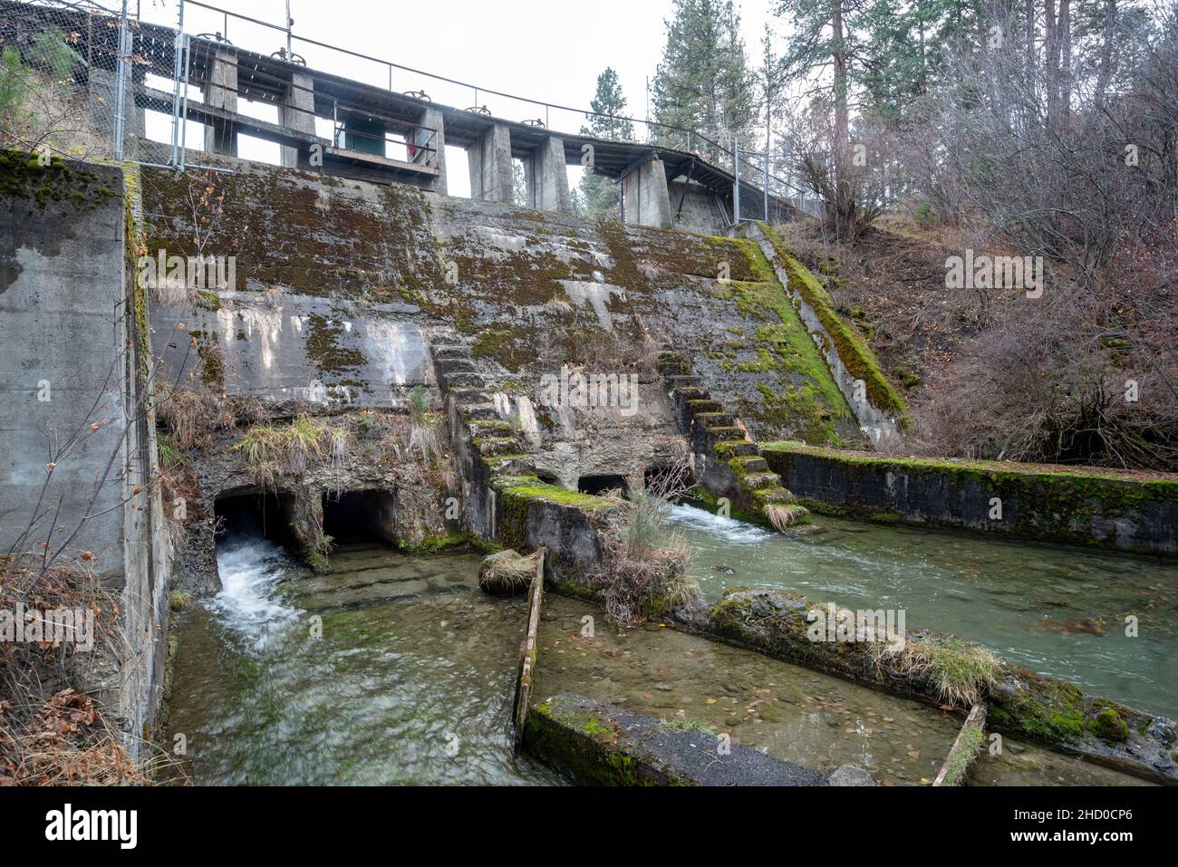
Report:
[[256,650],[298,620],[298,609],[276,593],[291,565],[286,551],[264,538],[240,538],[217,549],[221,589],[210,608]]

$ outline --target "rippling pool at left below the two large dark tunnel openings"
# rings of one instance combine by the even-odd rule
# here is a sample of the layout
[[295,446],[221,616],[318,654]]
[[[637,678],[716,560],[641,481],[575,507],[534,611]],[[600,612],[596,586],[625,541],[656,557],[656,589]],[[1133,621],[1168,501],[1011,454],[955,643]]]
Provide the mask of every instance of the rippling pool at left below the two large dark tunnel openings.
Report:
[[184,614],[172,686],[194,782],[563,781],[511,759],[527,603],[483,595],[477,555],[346,545],[313,575],[244,538],[217,560],[221,593]]

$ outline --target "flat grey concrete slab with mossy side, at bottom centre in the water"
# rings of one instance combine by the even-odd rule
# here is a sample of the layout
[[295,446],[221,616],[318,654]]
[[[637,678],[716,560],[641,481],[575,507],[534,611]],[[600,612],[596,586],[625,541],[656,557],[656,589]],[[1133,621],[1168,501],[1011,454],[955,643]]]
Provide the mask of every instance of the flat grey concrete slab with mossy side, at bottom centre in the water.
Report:
[[594,786],[822,786],[816,770],[715,735],[667,728],[591,699],[562,694],[531,708],[524,747]]

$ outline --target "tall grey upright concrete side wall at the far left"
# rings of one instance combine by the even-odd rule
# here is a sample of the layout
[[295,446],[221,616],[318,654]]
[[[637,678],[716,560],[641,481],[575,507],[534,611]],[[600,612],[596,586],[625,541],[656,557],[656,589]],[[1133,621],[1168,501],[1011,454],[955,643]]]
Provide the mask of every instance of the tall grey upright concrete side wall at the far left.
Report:
[[61,564],[86,555],[119,595],[125,647],[79,680],[117,709],[138,755],[159,697],[171,576],[150,484],[158,458],[140,398],[147,346],[126,269],[124,177],[2,155],[0,550],[47,542]]

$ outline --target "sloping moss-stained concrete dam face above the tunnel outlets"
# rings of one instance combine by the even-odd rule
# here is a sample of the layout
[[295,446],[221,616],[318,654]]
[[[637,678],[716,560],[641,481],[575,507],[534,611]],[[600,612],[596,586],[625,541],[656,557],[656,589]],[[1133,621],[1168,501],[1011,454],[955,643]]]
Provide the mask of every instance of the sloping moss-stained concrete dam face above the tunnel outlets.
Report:
[[[663,336],[691,350],[716,399],[759,437],[856,435],[744,241],[232,165],[237,174],[188,180],[154,172],[146,185],[150,251],[194,252],[184,203],[190,183],[209,184],[221,213],[201,230],[204,250],[237,263],[234,291],[153,309],[170,376],[178,356],[193,363],[174,339],[184,320],[196,357],[214,358],[210,388],[269,402],[305,397],[318,380],[332,405],[389,405],[390,383],[430,384],[422,335],[446,329],[470,346],[499,421],[518,425],[542,475],[567,488],[587,475],[633,483],[682,452],[653,364]],[[803,339],[781,342],[782,331]],[[636,376],[641,393],[628,406],[547,405],[543,378],[565,368]]]

